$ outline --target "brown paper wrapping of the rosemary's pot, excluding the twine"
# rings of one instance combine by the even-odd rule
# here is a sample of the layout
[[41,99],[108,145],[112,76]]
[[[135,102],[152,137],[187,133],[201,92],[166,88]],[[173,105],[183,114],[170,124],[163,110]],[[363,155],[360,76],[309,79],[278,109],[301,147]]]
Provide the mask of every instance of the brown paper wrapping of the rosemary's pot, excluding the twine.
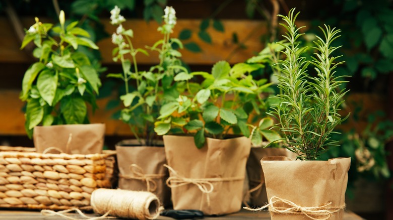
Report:
[[[302,207],[332,202],[345,205],[345,191],[351,158],[329,161],[292,161],[288,157],[265,157],[261,161],[268,198],[279,196]],[[304,215],[275,214],[272,219],[305,219]],[[343,219],[344,210],[333,213],[331,220]]]

